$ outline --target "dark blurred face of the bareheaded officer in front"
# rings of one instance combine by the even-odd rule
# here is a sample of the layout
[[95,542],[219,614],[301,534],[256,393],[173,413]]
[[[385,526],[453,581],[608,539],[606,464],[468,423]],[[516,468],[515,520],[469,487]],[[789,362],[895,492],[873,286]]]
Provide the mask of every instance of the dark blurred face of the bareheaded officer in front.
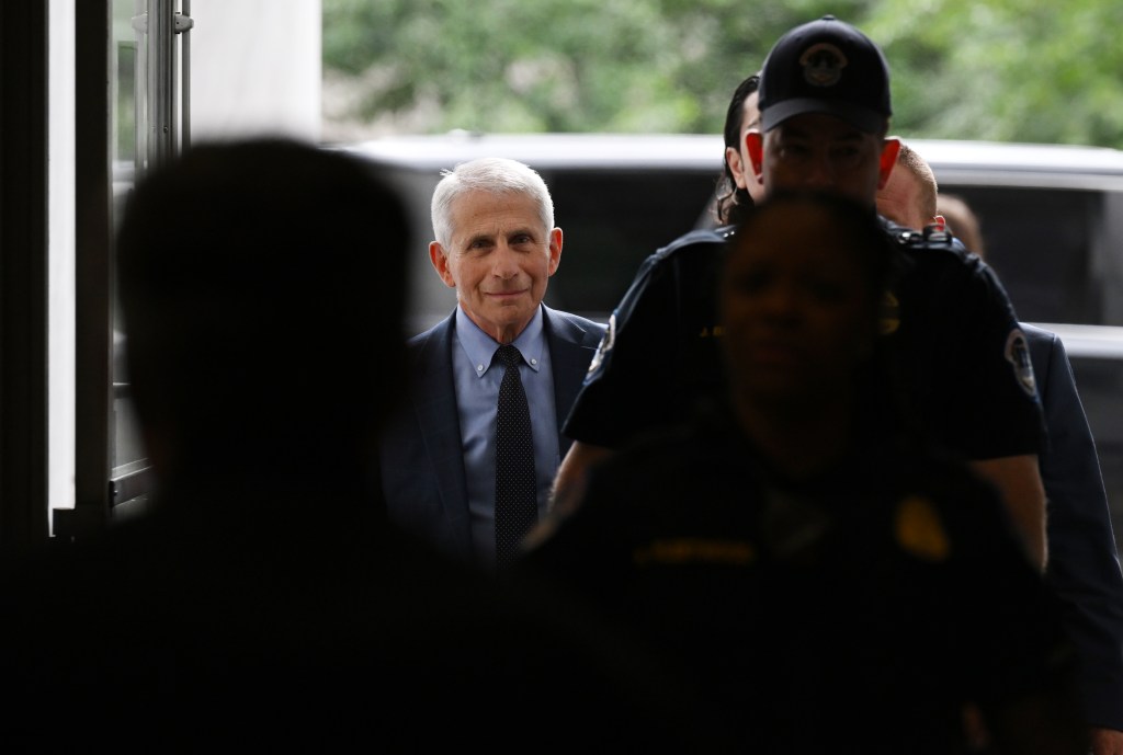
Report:
[[782,206],[738,236],[722,277],[722,348],[743,402],[811,406],[852,389],[873,349],[871,292],[821,209]]

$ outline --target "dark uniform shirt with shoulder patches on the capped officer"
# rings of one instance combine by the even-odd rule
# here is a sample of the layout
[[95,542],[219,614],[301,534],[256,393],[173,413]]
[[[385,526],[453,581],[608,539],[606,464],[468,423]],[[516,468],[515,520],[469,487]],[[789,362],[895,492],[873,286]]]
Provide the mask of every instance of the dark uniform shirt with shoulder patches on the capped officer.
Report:
[[[947,234],[884,224],[901,251],[884,337],[917,421],[968,459],[1038,453],[1033,370],[994,271]],[[731,236],[728,227],[692,231],[645,260],[610,320],[566,435],[620,448],[721,395],[715,286]]]

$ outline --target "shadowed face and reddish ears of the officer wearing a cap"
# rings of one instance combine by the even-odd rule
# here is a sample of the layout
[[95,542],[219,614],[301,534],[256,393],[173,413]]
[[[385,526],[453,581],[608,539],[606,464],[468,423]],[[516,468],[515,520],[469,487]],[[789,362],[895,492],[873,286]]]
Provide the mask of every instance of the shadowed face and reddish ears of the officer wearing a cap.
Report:
[[811,188],[874,204],[888,179],[900,142],[867,133],[823,113],[793,116],[746,147],[764,191]]

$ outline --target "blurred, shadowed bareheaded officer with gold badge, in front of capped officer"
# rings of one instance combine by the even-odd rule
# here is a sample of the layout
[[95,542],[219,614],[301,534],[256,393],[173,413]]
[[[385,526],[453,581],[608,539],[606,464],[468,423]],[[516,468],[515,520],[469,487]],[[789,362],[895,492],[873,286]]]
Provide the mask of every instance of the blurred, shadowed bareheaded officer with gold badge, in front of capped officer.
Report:
[[728,403],[590,472],[521,568],[681,662],[742,752],[1083,752],[1053,597],[995,488],[883,400],[873,208],[774,192],[720,282]]

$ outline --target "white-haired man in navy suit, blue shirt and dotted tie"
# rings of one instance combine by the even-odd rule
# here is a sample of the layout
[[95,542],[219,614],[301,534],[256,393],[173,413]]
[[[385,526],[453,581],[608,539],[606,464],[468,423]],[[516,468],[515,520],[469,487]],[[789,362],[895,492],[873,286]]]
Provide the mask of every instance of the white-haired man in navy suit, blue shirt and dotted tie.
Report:
[[[569,448],[562,423],[604,325],[542,304],[563,237],[549,190],[529,166],[489,157],[447,171],[433,191],[432,227],[429,258],[457,306],[409,341],[414,380],[383,433],[382,484],[395,522],[493,569],[514,558],[546,512]],[[501,347],[518,349],[531,425],[533,470],[521,485],[497,463]],[[496,506],[509,485],[527,490],[532,510],[509,516]]]

